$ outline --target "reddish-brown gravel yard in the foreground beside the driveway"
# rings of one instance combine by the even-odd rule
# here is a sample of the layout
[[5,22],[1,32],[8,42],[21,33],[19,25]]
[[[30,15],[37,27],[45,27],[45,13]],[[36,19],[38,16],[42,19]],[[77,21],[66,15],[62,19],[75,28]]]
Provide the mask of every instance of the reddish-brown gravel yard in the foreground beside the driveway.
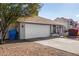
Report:
[[1,56],[76,56],[76,54],[33,42],[0,45]]

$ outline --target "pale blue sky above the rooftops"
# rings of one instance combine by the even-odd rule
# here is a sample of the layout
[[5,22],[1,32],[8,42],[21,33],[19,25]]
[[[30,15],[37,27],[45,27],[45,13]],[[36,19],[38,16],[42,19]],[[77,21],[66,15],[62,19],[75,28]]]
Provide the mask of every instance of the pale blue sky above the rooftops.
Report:
[[55,19],[57,17],[68,17],[79,21],[79,4],[78,3],[45,3],[39,16]]

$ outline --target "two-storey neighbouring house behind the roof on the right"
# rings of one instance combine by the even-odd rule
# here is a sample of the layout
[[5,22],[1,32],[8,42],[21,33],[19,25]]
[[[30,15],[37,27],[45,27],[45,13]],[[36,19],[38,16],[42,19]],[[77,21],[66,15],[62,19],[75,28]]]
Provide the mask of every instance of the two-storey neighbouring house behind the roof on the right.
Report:
[[77,22],[73,21],[73,19],[68,19],[68,18],[64,18],[64,17],[56,18],[54,20],[62,23],[66,27],[66,30],[75,28],[77,25]]

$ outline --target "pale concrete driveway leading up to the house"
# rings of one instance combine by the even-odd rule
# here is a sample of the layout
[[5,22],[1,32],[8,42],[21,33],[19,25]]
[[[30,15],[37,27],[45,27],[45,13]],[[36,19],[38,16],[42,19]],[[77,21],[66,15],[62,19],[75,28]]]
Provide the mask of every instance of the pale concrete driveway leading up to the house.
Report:
[[67,52],[75,53],[79,55],[79,41],[68,38],[54,38],[42,41],[35,41],[46,46],[61,49]]

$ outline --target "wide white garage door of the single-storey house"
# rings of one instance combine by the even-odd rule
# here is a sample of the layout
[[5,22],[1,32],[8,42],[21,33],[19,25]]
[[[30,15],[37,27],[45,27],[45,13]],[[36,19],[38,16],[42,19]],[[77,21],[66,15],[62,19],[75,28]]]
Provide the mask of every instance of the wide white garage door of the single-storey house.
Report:
[[49,25],[25,24],[25,39],[49,37],[49,36],[50,36]]

